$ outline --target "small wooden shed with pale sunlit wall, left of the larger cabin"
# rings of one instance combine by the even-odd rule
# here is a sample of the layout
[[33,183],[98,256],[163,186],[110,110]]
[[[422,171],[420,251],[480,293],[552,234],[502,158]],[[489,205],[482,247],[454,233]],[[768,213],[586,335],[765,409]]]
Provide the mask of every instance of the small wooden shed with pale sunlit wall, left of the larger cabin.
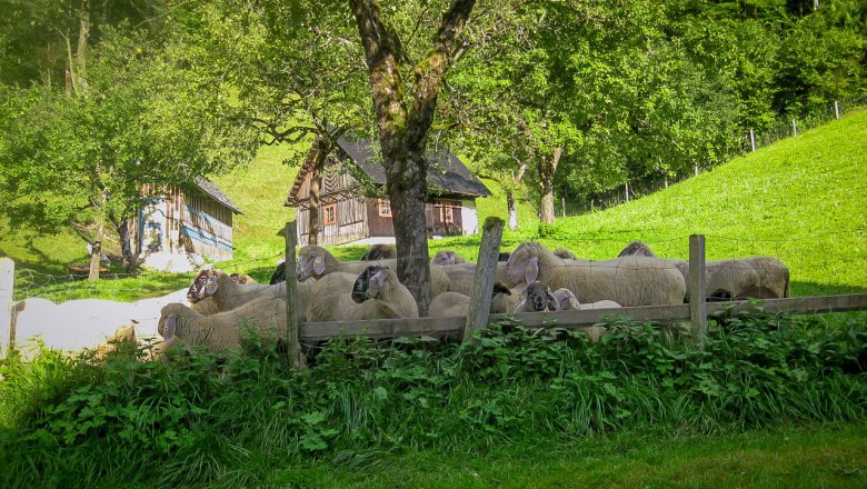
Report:
[[133,229],[133,252],[142,267],[189,271],[232,258],[232,218],[242,213],[213,182],[198,178],[187,188],[147,186],[149,199]]

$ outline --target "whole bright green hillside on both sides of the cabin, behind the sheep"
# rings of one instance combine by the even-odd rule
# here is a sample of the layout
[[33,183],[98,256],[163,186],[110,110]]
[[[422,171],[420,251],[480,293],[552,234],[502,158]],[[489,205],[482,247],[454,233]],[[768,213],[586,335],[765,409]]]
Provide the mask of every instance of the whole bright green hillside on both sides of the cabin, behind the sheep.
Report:
[[[263,147],[248,167],[213,177],[245,212],[235,222],[236,258],[219,266],[260,280],[270,276],[283,255],[278,233],[293,218],[283,201],[298,166],[283,160],[297,163],[298,150],[305,148],[303,142],[296,151]],[[478,200],[479,219],[506,218],[499,186],[486,183],[494,196]],[[783,259],[791,269],[796,296],[861,291],[867,289],[866,189],[867,111],[856,111],[656,194],[558,218],[552,233],[542,239],[537,236],[535,209],[525,202],[519,206],[520,229],[506,231],[504,249],[532,239],[604,259],[631,240],[642,240],[661,257],[686,258],[689,234],[704,233],[708,259],[751,255]],[[431,241],[430,248],[431,253],[450,248],[475,259],[479,241],[480,236],[450,238]],[[332,248],[342,259],[356,259],[363,249]],[[0,238],[0,256],[12,257],[19,269],[62,273],[64,263],[84,259],[84,247],[71,232],[40,238],[33,246]],[[168,290],[179,283],[165,275],[151,281],[160,280],[171,287]]]

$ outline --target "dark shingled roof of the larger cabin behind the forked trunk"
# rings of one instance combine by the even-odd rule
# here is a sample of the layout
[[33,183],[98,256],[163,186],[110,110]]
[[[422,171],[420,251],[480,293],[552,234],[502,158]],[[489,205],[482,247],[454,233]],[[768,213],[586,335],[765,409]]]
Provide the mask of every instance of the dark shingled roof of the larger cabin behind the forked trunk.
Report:
[[[337,144],[371,180],[377,183],[386,183],[386,171],[377,161],[376,152],[370,141],[348,141],[343,138],[337,140]],[[479,179],[472,176],[467,167],[448,151],[428,153],[428,186],[447,193],[457,193],[470,197],[490,196],[490,190]]]

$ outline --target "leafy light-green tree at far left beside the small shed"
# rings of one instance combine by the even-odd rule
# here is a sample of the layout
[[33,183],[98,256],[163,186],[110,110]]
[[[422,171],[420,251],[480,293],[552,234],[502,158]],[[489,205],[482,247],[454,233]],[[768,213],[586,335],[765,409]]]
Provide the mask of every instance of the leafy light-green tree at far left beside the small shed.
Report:
[[[225,123],[226,97],[183,68],[186,47],[150,47],[106,29],[88,47],[72,90],[37,84],[14,92],[2,123],[0,212],[12,231],[56,232],[91,222],[91,279],[107,227],[120,233],[144,183],[182,184],[252,157],[253,140]],[[124,249],[129,263],[130,250]]]

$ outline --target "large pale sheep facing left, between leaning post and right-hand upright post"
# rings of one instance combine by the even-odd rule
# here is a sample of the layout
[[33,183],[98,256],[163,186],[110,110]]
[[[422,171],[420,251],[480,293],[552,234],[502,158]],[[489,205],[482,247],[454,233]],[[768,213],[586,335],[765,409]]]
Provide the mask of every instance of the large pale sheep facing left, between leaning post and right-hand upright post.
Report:
[[678,269],[658,258],[564,260],[539,243],[522,242],[506,262],[506,285],[536,280],[565,287],[589,302],[614,300],[626,307],[682,303],[686,282]]

